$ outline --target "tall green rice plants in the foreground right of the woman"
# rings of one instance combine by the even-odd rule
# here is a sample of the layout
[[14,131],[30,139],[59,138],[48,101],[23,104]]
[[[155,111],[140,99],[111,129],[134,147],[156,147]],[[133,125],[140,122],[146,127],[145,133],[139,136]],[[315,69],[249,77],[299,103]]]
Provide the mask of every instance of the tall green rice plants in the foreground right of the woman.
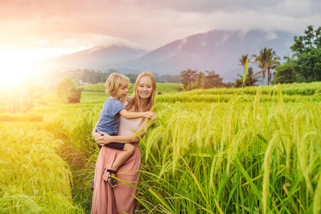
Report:
[[142,186],[158,195],[142,190],[148,210],[320,212],[320,103],[275,92],[267,102],[259,88],[227,103],[158,103],[141,141]]

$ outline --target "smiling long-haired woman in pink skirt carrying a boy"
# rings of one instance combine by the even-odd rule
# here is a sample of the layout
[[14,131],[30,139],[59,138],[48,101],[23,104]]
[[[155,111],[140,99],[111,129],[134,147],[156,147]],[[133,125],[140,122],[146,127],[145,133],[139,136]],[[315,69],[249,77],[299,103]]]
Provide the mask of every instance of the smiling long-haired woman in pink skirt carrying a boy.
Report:
[[[156,95],[156,80],[151,72],[143,72],[138,75],[134,87],[133,96],[130,101],[124,103],[127,111],[143,112],[151,111],[154,105]],[[121,123],[118,129],[118,136],[104,136],[96,133],[96,127],[93,129],[93,137],[101,148],[99,152],[93,189],[93,204],[91,213],[134,213],[136,208],[136,195],[138,190],[127,185],[138,186],[141,170],[141,149],[138,146],[139,137],[136,136],[136,131],[139,132],[146,127],[147,120],[127,120],[121,117]],[[145,133],[139,133],[143,137]],[[132,143],[135,146],[133,156],[129,158],[123,165],[118,168],[116,177],[124,180],[126,183],[117,180],[117,188],[113,189],[106,182],[108,173],[104,173],[104,168],[111,168],[113,161],[122,151],[108,148],[104,146],[106,143]]]

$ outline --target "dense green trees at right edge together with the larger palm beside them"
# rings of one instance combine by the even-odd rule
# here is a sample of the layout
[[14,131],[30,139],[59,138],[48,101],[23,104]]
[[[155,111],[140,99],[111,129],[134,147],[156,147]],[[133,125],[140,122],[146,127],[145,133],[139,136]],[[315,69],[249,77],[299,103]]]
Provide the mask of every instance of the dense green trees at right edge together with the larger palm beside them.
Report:
[[[261,75],[263,82],[267,73],[267,85],[321,81],[321,26],[317,29],[307,26],[304,36],[294,36],[290,50],[292,56],[284,56],[285,63],[280,64],[280,57],[275,51],[260,49],[260,54],[252,55],[255,58],[253,63],[260,68],[253,76]],[[275,72],[272,73],[272,69]]]

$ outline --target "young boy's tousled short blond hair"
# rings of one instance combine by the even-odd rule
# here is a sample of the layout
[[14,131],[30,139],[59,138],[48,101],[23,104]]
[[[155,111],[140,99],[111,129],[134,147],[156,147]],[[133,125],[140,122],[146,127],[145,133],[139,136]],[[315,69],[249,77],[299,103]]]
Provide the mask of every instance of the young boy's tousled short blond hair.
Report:
[[122,86],[126,87],[128,84],[129,78],[127,76],[123,76],[121,73],[111,73],[105,84],[105,92],[108,93],[109,96],[113,96],[119,88]]

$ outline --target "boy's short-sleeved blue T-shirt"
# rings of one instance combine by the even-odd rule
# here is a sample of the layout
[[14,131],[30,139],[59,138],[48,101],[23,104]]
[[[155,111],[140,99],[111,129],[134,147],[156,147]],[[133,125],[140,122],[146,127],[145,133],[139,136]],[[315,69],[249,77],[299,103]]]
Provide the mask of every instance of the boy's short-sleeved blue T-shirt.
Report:
[[118,133],[121,115],[119,111],[125,109],[121,101],[116,98],[107,98],[101,108],[101,116],[97,123],[97,131],[108,133],[108,135],[116,136]]

